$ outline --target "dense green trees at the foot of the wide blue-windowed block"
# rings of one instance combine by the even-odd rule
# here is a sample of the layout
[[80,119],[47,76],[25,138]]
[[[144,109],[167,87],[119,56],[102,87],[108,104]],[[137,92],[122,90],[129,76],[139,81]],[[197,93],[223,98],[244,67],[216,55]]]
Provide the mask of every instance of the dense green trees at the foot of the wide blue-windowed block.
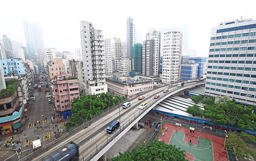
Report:
[[214,119],[214,122],[218,125],[234,125],[242,129],[248,129],[249,127],[256,129],[256,115],[253,113],[253,108],[236,104],[234,101],[204,107],[204,117]]

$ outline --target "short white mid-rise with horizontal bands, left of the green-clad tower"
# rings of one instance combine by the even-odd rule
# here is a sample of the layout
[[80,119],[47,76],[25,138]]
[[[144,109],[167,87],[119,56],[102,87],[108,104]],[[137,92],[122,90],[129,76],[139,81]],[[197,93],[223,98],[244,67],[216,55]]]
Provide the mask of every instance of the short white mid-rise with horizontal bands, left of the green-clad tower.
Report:
[[116,61],[117,71],[123,76],[129,76],[130,72],[130,58],[119,58]]

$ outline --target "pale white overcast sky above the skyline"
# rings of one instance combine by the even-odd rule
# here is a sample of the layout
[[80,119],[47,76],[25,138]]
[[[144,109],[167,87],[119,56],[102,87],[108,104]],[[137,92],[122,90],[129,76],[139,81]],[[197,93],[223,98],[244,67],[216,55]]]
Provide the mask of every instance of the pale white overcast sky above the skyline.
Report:
[[0,36],[25,44],[22,21],[37,23],[42,28],[45,48],[74,52],[81,48],[80,21],[89,21],[103,30],[104,38],[121,38],[126,42],[126,19],[132,17],[137,42],[145,40],[152,28],[165,30],[189,24],[189,49],[208,56],[210,30],[221,21],[256,19],[256,1],[24,1],[2,0]]

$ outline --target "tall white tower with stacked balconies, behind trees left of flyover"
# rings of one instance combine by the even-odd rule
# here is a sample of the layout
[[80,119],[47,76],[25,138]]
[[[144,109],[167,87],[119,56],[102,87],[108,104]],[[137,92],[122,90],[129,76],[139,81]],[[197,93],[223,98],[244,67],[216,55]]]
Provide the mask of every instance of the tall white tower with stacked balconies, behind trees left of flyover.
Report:
[[80,32],[85,94],[106,93],[108,85],[105,83],[105,52],[102,31],[93,28],[93,24],[88,21],[81,21]]

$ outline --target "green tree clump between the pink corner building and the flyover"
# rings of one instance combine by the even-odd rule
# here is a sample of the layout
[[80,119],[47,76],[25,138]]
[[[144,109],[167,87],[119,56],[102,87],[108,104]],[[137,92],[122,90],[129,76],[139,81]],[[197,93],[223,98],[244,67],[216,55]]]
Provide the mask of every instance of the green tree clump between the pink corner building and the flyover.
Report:
[[67,121],[66,127],[74,127],[81,121],[101,113],[103,109],[112,107],[114,104],[123,101],[124,97],[113,96],[110,93],[101,93],[101,95],[83,95],[80,98],[74,98],[71,103],[72,117]]

